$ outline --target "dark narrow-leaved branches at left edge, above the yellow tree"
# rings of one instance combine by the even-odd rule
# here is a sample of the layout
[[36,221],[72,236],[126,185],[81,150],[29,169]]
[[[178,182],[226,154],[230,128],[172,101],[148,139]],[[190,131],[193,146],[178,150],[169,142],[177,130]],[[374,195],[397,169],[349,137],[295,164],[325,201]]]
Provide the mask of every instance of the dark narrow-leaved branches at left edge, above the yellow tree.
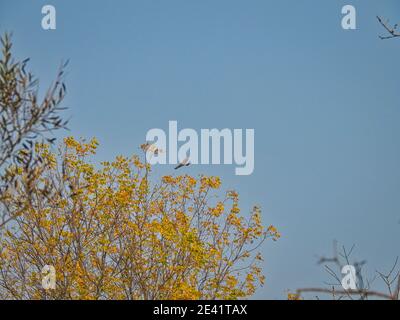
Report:
[[18,165],[31,177],[41,161],[34,152],[38,140],[53,143],[48,134],[65,128],[67,122],[60,117],[60,106],[65,95],[60,68],[53,85],[39,98],[38,80],[26,71],[29,59],[14,61],[10,35],[1,39],[0,58],[0,228],[14,217],[4,202],[5,192],[17,181],[10,166]]

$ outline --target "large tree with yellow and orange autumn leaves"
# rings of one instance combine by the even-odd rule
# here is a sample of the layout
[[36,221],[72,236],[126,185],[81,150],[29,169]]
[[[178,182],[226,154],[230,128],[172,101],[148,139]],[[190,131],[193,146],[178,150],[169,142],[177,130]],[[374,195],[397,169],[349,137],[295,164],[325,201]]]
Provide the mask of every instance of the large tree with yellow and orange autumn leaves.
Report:
[[[97,141],[67,138],[31,177],[14,167],[6,193],[15,223],[3,231],[3,299],[237,299],[264,282],[257,248],[266,238],[254,207],[245,219],[238,194],[219,198],[218,177],[164,176],[136,156],[96,166]],[[56,289],[41,285],[45,265]]]

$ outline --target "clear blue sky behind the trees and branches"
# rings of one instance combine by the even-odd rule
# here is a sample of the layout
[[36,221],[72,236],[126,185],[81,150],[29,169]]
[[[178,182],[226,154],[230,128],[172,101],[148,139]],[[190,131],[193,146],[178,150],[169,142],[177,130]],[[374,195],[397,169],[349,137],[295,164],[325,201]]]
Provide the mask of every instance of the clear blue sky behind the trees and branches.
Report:
[[[41,28],[45,4],[55,31]],[[345,4],[356,31],[341,28]],[[330,280],[316,256],[334,239],[356,244],[371,272],[400,255],[400,39],[378,39],[377,14],[400,22],[400,2],[0,0],[0,32],[13,32],[42,88],[70,59],[71,133],[98,137],[98,160],[137,153],[170,120],[254,128],[253,175],[184,170],[221,176],[245,211],[262,206],[282,239],[262,247],[267,281],[255,297],[284,298]]]

